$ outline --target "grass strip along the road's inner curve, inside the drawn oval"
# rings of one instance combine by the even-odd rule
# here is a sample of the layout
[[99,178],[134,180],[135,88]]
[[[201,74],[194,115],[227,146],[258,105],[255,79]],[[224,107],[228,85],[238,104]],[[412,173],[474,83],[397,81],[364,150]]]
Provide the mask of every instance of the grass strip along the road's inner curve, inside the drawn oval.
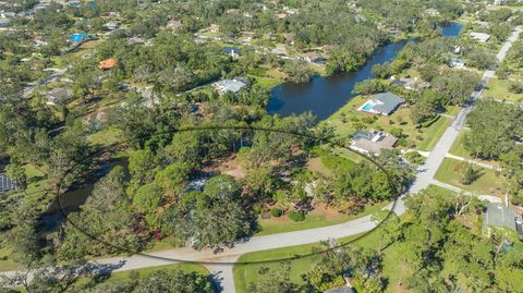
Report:
[[269,219],[259,219],[258,223],[262,227],[262,231],[256,235],[268,235],[339,224],[373,213],[388,204],[388,202],[385,202],[374,206],[366,206],[362,212],[356,215],[343,215],[332,209],[316,208],[312,212],[307,213],[305,220],[302,222],[293,222],[287,216],[282,216],[280,218],[271,217]]

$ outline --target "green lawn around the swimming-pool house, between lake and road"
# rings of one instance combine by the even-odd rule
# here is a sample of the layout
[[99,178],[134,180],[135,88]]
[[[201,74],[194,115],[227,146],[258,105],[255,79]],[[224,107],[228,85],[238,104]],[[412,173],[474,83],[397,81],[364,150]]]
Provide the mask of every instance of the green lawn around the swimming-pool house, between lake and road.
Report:
[[[329,117],[321,123],[332,125],[341,137],[346,137],[354,133],[357,125],[364,129],[382,129],[390,132],[393,129],[401,129],[406,135],[406,147],[421,150],[431,150],[445,130],[450,125],[451,119],[441,117],[433,125],[416,130],[416,125],[411,120],[411,109],[400,108],[391,117],[375,115],[357,111],[357,108],[367,100],[367,97],[356,96],[350,100],[340,110]],[[372,121],[370,118],[377,118]],[[368,121],[367,121],[368,120]]]

